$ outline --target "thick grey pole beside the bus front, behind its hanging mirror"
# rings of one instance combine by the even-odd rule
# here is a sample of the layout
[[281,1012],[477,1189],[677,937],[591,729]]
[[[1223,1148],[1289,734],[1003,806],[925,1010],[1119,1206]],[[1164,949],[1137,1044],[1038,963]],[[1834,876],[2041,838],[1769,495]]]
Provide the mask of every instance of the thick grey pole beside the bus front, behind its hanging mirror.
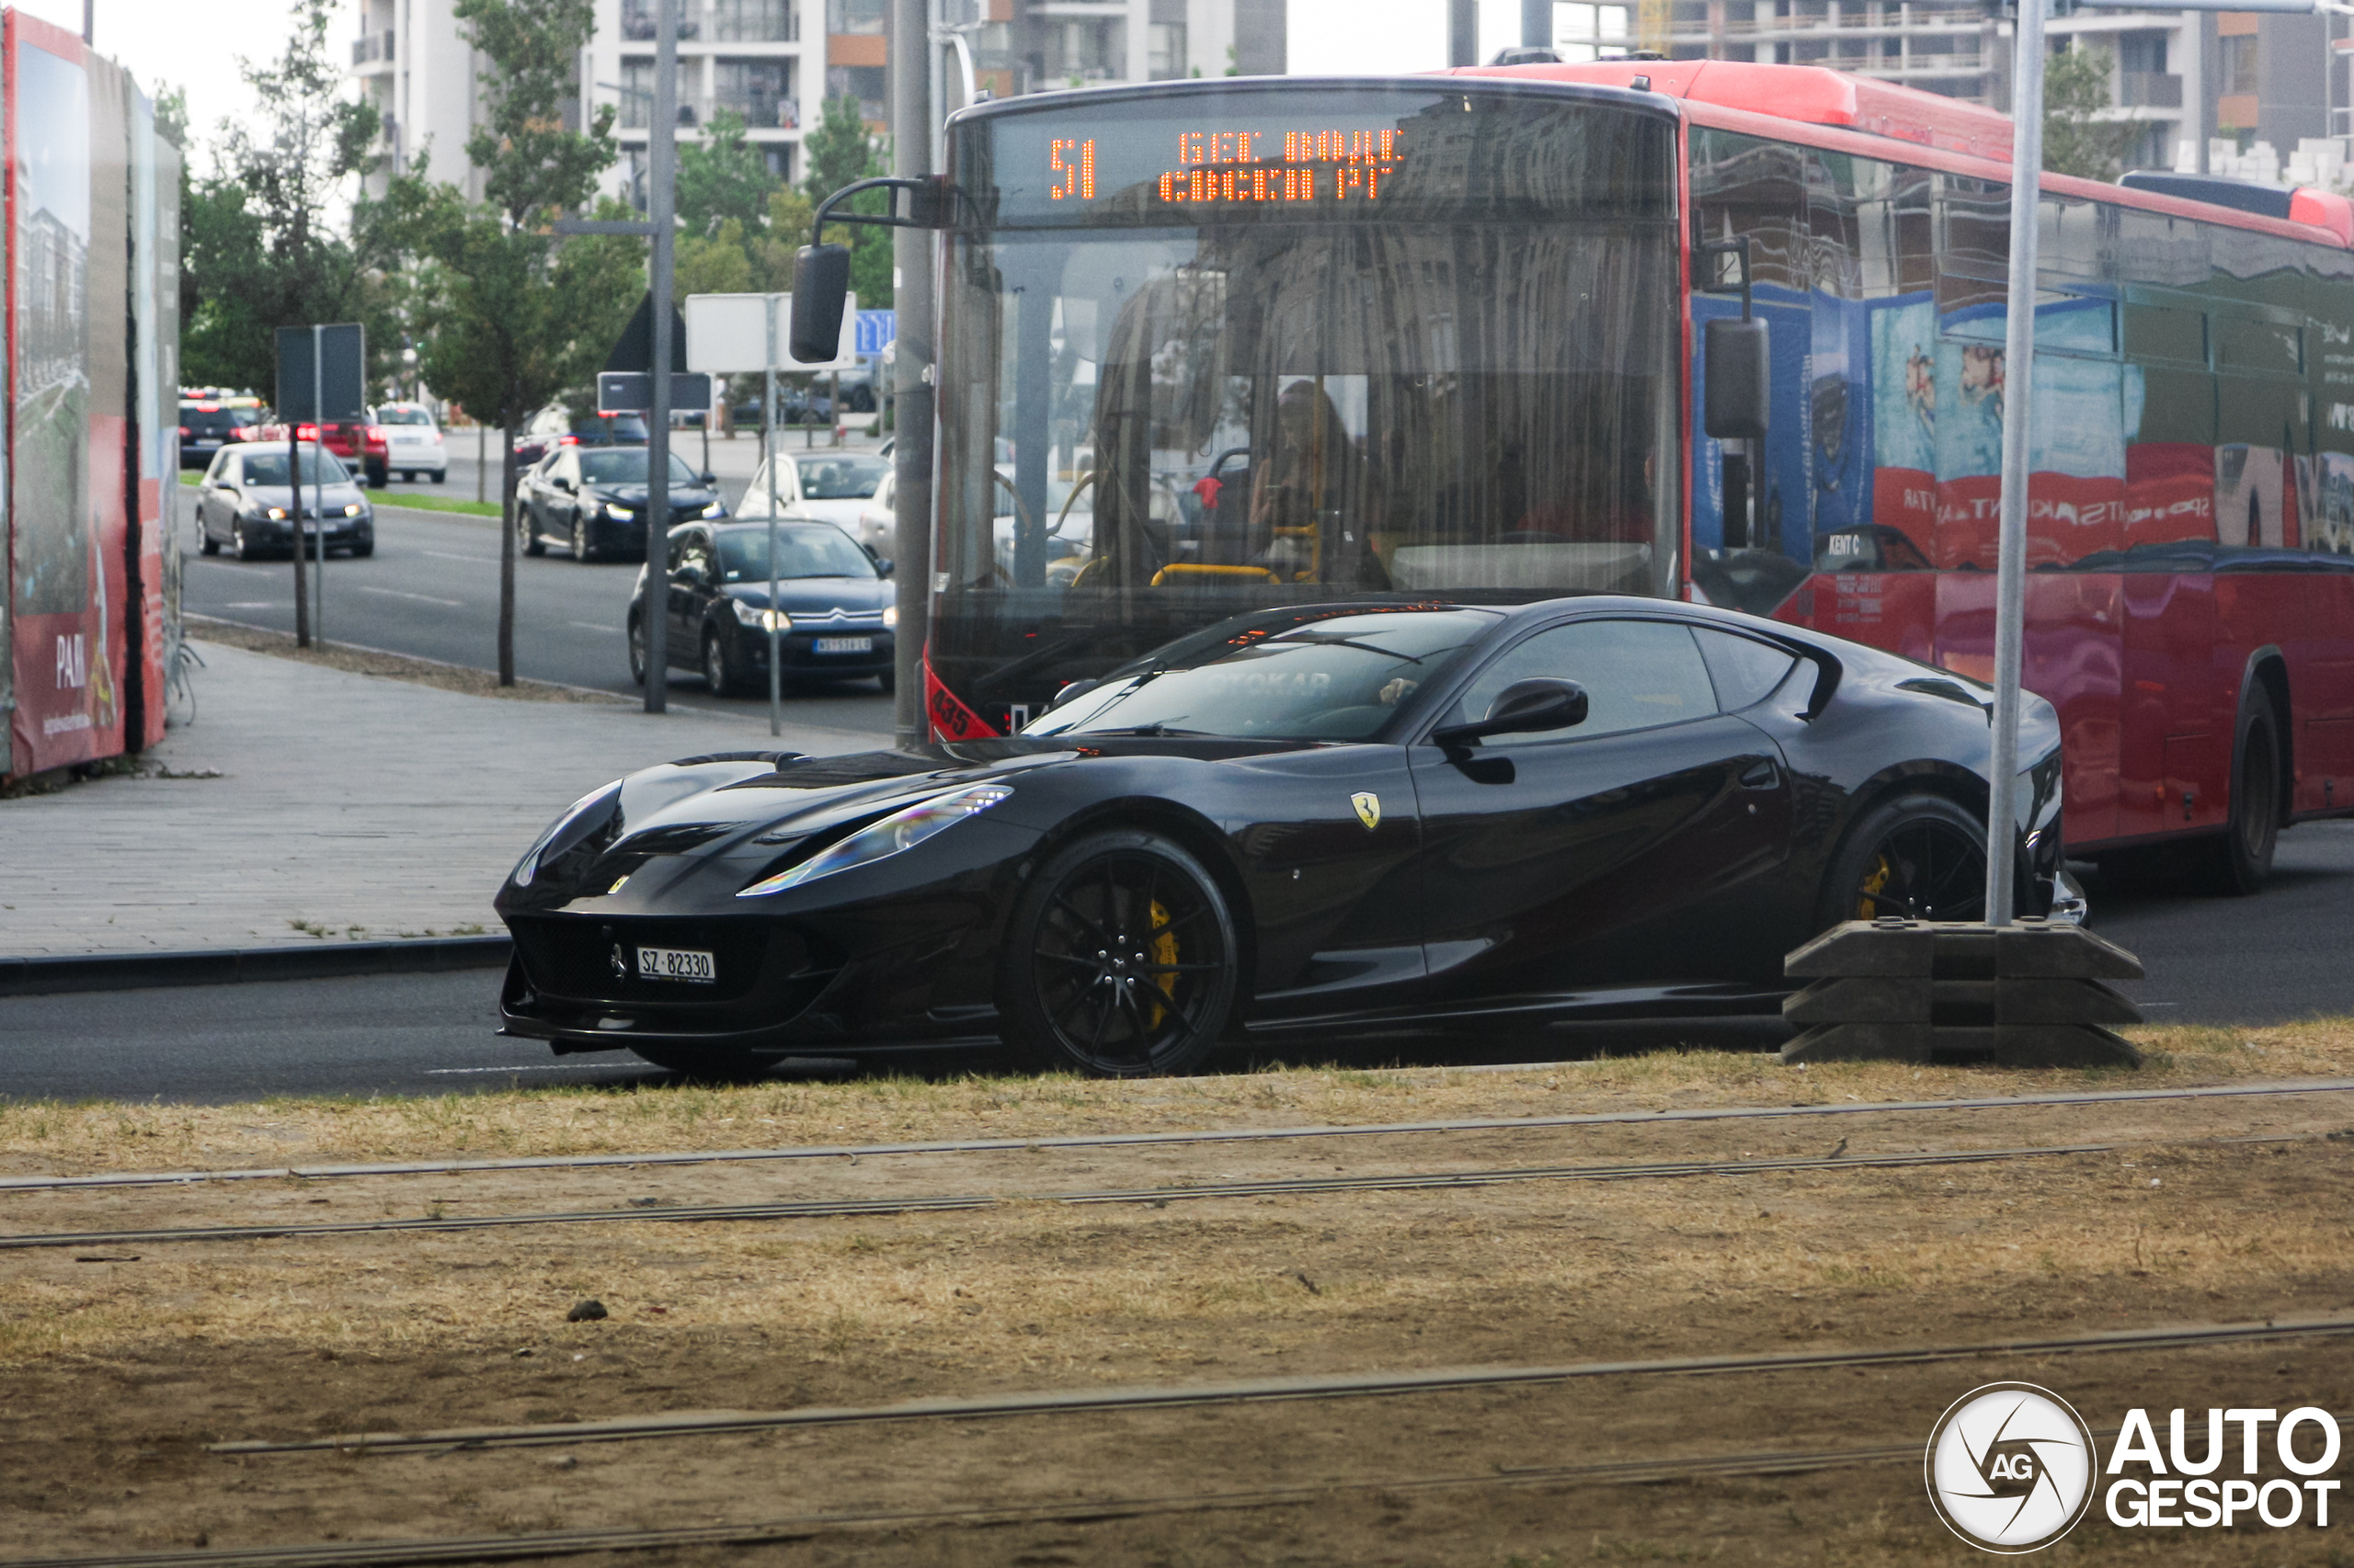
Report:
[[[890,148],[892,174],[932,172],[930,0],[892,0]],[[899,629],[892,659],[892,737],[902,751],[932,739],[923,718],[925,643],[932,610],[932,233],[892,231],[899,311],[899,428],[892,447],[892,570]],[[989,452],[979,454],[989,461]]]

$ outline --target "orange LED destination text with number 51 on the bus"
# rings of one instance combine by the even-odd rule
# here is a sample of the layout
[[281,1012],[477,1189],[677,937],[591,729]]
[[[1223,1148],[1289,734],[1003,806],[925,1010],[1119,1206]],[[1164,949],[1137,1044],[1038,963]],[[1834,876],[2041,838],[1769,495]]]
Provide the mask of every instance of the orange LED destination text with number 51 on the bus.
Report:
[[[1405,165],[1405,137],[1379,129],[1177,132],[1177,167],[1149,179],[1168,205],[1379,200]],[[1095,200],[1095,137],[1048,141],[1048,198]]]

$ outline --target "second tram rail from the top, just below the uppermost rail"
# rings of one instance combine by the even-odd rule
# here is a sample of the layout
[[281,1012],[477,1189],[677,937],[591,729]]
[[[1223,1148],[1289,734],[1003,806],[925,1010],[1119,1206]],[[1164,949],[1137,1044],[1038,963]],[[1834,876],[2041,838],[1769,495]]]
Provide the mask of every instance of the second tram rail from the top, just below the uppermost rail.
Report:
[[[2173,1140],[2182,1144],[2272,1144],[2298,1142],[2288,1135]],[[723,1224],[742,1220],[831,1220],[852,1215],[935,1215],[998,1210],[1015,1203],[1095,1205],[1137,1203],[1165,1208],[1201,1198],[1306,1198],[1354,1191],[1431,1191],[1504,1187],[1514,1182],[1655,1182],[1676,1177],[1747,1177],[1806,1175],[1850,1170],[1904,1170],[1923,1165],[1989,1165],[2029,1158],[2064,1158],[2114,1154],[2147,1147],[2142,1142],[2041,1144],[2032,1149],[1916,1149],[1904,1154],[1831,1154],[1744,1161],[1653,1161],[1629,1165],[1499,1165],[1488,1170],[1427,1170],[1332,1177],[1271,1177],[1241,1182],[1198,1182],[1191,1187],[1097,1187],[1038,1194],[930,1194],[906,1198],[803,1198],[786,1203],[633,1203],[626,1208],[586,1208],[518,1215],[395,1215],[384,1220],[290,1220],[280,1224],[198,1224],[115,1231],[26,1231],[0,1236],[0,1253],[38,1248],[125,1248],[177,1245],[207,1241],[275,1241],[318,1236],[381,1236],[388,1231],[485,1231],[548,1224]]]

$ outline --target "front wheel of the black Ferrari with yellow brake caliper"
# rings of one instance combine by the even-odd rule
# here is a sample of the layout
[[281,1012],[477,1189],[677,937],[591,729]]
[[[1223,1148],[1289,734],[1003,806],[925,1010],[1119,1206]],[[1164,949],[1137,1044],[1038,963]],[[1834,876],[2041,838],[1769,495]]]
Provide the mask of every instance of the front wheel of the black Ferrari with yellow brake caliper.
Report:
[[1036,866],[1015,904],[998,1024],[1040,1071],[1186,1074],[1233,1019],[1238,954],[1226,895],[1184,845],[1088,833]]

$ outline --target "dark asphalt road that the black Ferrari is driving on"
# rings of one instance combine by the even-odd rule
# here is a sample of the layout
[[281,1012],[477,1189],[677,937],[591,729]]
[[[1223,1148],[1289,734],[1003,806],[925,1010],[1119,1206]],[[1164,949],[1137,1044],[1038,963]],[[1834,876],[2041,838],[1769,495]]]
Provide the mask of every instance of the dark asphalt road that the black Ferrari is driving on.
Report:
[[[2274,885],[2255,899],[2128,899],[2097,883],[2088,892],[2095,928],[2149,968],[2149,979],[2123,989],[2152,1022],[2267,1024],[2354,1012],[2354,972],[2342,951],[2354,918],[2354,822],[2286,833]],[[544,1045],[497,1038],[497,989],[499,975],[478,970],[0,1001],[0,1095],[242,1102],[669,1083],[624,1052],[556,1057]],[[1309,1055],[1478,1064],[1678,1041],[1770,1048],[1782,1038],[1780,1022],[1766,1019],[1577,1024],[1542,1041],[1379,1041]],[[927,1064],[944,1062],[897,1069]]]

